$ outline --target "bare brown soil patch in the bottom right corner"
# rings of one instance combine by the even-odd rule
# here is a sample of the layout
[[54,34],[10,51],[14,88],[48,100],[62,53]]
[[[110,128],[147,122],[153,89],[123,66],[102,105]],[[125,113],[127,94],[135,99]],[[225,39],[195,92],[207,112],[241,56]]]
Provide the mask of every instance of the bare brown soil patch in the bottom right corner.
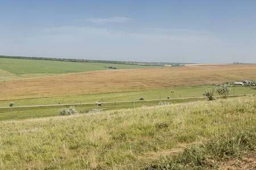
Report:
[[247,152],[242,158],[224,162],[220,170],[256,170],[256,151]]

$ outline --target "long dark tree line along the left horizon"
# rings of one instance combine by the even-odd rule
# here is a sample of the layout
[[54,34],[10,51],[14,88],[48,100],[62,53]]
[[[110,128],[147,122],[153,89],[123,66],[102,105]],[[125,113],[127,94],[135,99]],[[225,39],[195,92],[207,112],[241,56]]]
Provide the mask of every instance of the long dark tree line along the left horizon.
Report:
[[168,62],[132,62],[132,61],[108,61],[108,60],[94,60],[94,59],[22,57],[22,56],[0,56],[0,58],[38,59],[38,60],[64,61],[64,62],[115,63],[115,64],[141,65],[141,66],[164,66],[164,65],[184,66],[184,63],[168,63]]

